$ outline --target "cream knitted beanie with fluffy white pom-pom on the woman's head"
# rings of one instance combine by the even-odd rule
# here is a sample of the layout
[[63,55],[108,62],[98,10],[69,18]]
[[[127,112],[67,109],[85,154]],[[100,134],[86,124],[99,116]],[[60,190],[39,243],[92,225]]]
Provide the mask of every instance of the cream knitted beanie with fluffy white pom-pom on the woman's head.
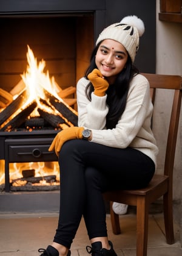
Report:
[[123,44],[132,59],[135,60],[139,48],[139,37],[144,33],[144,23],[137,16],[126,16],[120,23],[106,27],[96,40],[96,45],[105,39],[112,39]]

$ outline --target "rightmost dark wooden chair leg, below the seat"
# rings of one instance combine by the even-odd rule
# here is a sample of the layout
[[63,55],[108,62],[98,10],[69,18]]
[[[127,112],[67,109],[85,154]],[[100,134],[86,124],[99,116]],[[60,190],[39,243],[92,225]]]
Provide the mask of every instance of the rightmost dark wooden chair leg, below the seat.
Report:
[[164,225],[166,230],[166,242],[167,244],[174,244],[174,223],[173,223],[173,205],[172,195],[166,193],[163,196],[163,208],[164,208]]

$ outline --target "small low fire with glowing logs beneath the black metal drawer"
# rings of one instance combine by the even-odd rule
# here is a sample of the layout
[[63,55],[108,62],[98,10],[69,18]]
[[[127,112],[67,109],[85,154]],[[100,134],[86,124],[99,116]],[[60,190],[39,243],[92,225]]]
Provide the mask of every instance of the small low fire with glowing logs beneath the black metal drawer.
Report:
[[[4,160],[0,160],[0,165],[3,167]],[[11,191],[59,190],[58,162],[10,163],[9,174]],[[5,175],[2,172],[0,191],[4,190],[4,182]]]

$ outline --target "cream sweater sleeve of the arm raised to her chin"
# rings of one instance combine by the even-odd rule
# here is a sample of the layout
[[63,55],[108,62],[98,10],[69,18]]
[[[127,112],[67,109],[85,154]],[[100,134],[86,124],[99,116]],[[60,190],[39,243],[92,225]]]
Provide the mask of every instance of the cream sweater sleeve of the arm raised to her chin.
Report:
[[106,105],[107,95],[98,97],[92,93],[92,101],[86,97],[86,86],[89,83],[84,77],[78,81],[76,87],[78,105],[78,126],[89,129],[103,130],[106,126],[106,115],[108,107]]

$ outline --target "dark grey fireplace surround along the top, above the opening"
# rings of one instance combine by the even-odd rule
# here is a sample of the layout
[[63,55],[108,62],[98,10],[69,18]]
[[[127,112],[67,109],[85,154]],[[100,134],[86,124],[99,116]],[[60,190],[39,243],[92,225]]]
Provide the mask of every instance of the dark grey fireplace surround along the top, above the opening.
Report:
[[1,0],[0,18],[24,17],[24,16],[61,16],[84,14],[92,12],[94,16],[94,39],[106,26],[106,0]]

